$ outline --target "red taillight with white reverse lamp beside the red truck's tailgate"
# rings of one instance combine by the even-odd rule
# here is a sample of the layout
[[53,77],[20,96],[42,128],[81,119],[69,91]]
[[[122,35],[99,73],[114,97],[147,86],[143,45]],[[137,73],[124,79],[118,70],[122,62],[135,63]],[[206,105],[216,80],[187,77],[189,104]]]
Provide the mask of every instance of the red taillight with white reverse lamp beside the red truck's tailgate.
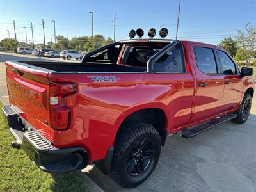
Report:
[[56,130],[68,129],[71,121],[71,111],[65,106],[64,99],[76,92],[74,83],[50,84],[51,128]]

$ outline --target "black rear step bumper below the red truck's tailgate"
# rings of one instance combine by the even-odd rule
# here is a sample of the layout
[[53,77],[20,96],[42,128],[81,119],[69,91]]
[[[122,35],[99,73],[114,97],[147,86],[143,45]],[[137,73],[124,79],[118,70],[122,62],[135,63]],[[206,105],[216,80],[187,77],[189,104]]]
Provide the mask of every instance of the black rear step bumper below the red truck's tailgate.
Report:
[[41,170],[63,173],[87,166],[88,154],[82,147],[56,148],[28,122],[29,132],[24,132],[22,122],[25,120],[11,106],[5,106],[2,110],[6,124],[16,138],[15,148],[20,146]]

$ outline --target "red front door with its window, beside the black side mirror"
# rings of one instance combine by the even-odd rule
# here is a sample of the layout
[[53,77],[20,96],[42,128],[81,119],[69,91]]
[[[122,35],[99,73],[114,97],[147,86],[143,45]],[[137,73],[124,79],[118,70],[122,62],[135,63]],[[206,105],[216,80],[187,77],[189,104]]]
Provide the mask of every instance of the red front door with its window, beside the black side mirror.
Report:
[[225,81],[225,89],[222,98],[223,110],[230,111],[237,109],[243,95],[243,88],[240,84],[239,69],[236,67],[236,64],[227,52],[220,49],[217,49],[217,52],[220,61],[221,73],[223,74]]

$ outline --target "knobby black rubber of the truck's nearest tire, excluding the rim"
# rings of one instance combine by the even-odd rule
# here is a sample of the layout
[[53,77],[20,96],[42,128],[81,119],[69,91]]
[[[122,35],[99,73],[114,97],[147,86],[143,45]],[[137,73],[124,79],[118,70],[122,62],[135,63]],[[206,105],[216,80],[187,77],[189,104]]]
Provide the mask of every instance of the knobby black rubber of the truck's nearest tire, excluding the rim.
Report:
[[[131,151],[136,142],[144,139],[150,140],[153,151],[152,159],[141,175],[130,175],[127,171],[128,162],[131,161]],[[161,138],[151,124],[144,122],[131,122],[122,125],[114,143],[110,177],[124,188],[133,188],[144,182],[153,172],[161,153]]]

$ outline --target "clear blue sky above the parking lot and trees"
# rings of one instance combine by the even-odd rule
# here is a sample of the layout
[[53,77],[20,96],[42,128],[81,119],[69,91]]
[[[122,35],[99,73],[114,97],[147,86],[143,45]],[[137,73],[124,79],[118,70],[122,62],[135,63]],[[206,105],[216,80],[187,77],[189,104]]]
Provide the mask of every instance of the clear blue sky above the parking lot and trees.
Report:
[[[45,26],[45,42],[56,35],[68,38],[92,35],[92,14],[94,13],[94,34],[113,38],[113,19],[116,12],[116,40],[128,39],[131,29],[142,28],[148,38],[150,28],[157,31],[168,28],[167,38],[175,38],[179,0],[95,0],[95,1],[6,1],[0,0],[0,40],[14,38],[15,20],[17,40],[32,41],[31,22],[35,44],[43,42],[42,19]],[[250,22],[256,27],[255,0],[181,0],[179,40],[194,40],[217,45],[228,36],[236,36],[237,30],[244,30]]]

